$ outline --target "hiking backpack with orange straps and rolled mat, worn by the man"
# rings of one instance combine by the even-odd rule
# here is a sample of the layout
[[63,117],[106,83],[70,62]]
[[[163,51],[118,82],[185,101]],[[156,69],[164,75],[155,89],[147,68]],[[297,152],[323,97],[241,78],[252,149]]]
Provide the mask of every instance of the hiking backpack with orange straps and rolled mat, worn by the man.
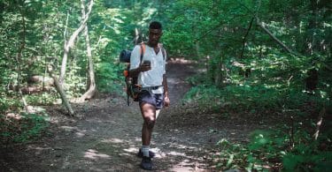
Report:
[[[162,47],[161,44],[158,45],[164,60],[166,56],[166,51]],[[140,64],[143,60],[143,56],[145,53],[145,42],[142,42],[140,44],[141,48],[141,56],[140,56]],[[120,62],[127,63],[127,68],[123,71],[123,75],[125,76],[125,82],[126,82],[126,93],[127,93],[127,105],[129,106],[129,97],[132,98],[134,101],[138,101],[138,94],[141,93],[142,86],[137,84],[138,76],[136,77],[130,77],[129,76],[129,68],[130,68],[130,56],[131,56],[131,50],[122,50],[120,52]]]

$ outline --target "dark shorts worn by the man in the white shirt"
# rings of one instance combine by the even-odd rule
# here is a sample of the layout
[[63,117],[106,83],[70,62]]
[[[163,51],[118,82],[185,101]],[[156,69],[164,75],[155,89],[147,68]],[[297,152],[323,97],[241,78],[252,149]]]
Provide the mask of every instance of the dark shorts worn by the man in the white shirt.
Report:
[[156,109],[161,109],[164,106],[164,94],[163,93],[151,93],[149,91],[143,90],[138,95],[138,101],[140,105],[142,103],[149,103],[156,107]]

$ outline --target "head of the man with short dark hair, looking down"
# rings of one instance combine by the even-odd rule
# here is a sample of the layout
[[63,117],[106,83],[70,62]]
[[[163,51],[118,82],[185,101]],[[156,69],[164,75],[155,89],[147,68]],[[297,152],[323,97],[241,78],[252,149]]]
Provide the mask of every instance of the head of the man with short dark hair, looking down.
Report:
[[162,32],[162,26],[158,21],[152,21],[149,26],[149,41],[148,44],[152,47],[157,47]]

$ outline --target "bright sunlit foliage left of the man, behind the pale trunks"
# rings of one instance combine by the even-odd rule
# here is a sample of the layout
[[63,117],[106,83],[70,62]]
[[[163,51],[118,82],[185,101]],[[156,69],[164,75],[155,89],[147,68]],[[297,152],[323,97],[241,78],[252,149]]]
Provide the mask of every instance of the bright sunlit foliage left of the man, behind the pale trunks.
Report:
[[[29,86],[31,76],[47,75],[48,64],[55,67],[56,75],[59,74],[64,43],[81,23],[81,3],[4,0],[0,6],[0,72],[3,74],[0,87],[4,91],[1,110],[6,111],[12,106],[12,94],[19,98],[19,93],[12,92],[10,86]],[[95,2],[88,28],[100,92],[122,92],[122,68],[118,62],[120,50],[134,47],[135,29],[146,40],[151,19],[164,19],[157,8],[167,7],[158,1]],[[85,43],[84,34],[80,34],[69,52],[65,86],[69,98],[79,97],[86,91],[88,60]],[[56,93],[40,93],[27,96],[27,101],[50,104],[57,98]]]

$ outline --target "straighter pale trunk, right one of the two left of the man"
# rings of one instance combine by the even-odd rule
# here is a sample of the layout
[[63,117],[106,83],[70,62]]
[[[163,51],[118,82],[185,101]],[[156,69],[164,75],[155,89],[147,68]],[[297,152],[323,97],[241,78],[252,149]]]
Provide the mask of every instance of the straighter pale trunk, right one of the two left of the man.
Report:
[[[85,14],[84,0],[81,0],[81,8],[82,8],[82,10],[81,10],[82,19],[85,19],[86,14]],[[81,98],[79,99],[79,101],[85,101],[87,99],[91,99],[97,91],[96,81],[95,81],[95,70],[94,70],[94,66],[93,66],[93,59],[92,59],[92,53],[91,53],[91,47],[90,47],[90,41],[89,41],[89,32],[88,32],[88,25],[87,24],[85,24],[85,27],[84,27],[84,35],[85,35],[85,41],[86,41],[86,46],[87,46],[87,56],[88,56],[88,63],[89,63],[89,69],[88,69],[89,76],[88,76],[88,83],[87,83],[87,85],[89,85],[89,89],[86,93],[81,95]]]

